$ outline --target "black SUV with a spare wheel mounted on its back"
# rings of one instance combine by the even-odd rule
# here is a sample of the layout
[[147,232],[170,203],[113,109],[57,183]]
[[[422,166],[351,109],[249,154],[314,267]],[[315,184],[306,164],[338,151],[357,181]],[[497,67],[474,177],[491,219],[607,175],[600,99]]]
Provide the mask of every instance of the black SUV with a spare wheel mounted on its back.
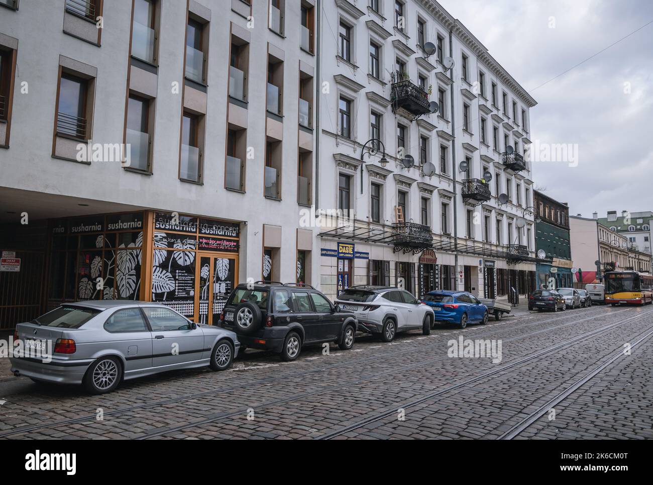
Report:
[[244,347],[272,350],[285,361],[295,360],[310,344],[334,342],[349,350],[358,328],[353,312],[310,285],[263,281],[236,286],[220,322]]

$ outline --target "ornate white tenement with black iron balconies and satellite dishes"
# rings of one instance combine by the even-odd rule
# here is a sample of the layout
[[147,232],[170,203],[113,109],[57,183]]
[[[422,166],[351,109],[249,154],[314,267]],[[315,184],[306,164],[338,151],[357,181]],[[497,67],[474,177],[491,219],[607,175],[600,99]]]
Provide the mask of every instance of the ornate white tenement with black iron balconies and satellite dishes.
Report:
[[316,199],[339,218],[319,235],[322,290],[533,290],[535,100],[436,1],[323,5]]

